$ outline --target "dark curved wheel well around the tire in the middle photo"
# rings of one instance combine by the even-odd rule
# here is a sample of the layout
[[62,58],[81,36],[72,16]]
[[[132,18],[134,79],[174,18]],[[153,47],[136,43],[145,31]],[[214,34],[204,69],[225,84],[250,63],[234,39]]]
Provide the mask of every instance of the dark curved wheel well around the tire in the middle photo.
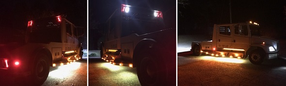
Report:
[[139,54],[143,49],[153,48],[154,44],[156,44],[156,41],[154,39],[142,39],[139,41],[139,43],[135,46],[132,62],[133,67],[137,66],[137,61],[140,60]]

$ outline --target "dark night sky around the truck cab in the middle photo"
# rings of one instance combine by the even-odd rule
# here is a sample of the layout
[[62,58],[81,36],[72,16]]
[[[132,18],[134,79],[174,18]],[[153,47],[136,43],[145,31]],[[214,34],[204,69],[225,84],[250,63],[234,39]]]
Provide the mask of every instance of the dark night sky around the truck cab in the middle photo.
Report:
[[175,28],[176,0],[89,0],[89,49],[99,49],[102,25],[121,4],[161,11],[167,27]]

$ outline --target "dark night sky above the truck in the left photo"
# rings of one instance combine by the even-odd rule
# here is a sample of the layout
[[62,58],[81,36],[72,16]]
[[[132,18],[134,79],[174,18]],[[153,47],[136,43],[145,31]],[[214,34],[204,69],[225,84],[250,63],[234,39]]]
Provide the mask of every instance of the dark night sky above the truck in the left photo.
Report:
[[87,0],[1,0],[0,27],[27,28],[28,21],[51,15],[66,15],[76,26],[87,26]]

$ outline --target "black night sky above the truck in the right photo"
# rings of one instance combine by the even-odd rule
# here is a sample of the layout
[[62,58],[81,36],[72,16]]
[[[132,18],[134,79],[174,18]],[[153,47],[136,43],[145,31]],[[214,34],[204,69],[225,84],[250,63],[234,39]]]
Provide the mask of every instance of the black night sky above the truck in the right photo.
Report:
[[[257,22],[266,35],[286,37],[284,6],[286,0],[231,0],[232,23]],[[227,23],[229,0],[179,0],[178,34],[204,34],[213,24]]]

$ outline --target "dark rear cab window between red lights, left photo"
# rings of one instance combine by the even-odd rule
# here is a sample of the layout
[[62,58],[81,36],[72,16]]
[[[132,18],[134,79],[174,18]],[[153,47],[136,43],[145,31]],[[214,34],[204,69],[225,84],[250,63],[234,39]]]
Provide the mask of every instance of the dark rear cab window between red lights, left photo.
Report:
[[57,17],[48,17],[32,21],[29,42],[49,43],[61,42],[61,21]]

